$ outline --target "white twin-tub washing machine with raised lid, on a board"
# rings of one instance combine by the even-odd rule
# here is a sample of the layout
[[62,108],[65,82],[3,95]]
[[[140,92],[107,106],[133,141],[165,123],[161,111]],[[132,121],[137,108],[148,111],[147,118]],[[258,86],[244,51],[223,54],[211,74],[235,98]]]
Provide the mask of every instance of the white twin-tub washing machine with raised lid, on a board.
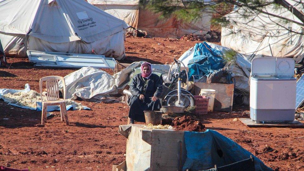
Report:
[[255,58],[251,62],[250,118],[294,121],[296,83],[292,58]]

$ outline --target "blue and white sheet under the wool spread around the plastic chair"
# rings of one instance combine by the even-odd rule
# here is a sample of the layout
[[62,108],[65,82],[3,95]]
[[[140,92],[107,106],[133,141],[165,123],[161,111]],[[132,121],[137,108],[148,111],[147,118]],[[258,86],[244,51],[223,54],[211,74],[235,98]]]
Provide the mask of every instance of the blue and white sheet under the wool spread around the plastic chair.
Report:
[[[37,107],[35,108],[35,107],[28,107],[28,106],[20,106],[20,105],[17,105],[15,103],[11,103],[8,99],[6,99],[5,97],[3,97],[3,95],[5,95],[7,93],[14,94],[14,93],[17,93],[17,92],[29,92],[29,91],[31,91],[31,88],[30,88],[29,84],[25,84],[23,90],[15,90],[15,89],[2,88],[2,89],[0,89],[0,99],[3,99],[4,102],[7,102],[9,105],[12,105],[12,106],[21,107],[21,108],[24,108],[24,109],[31,109],[31,110],[41,111],[41,109],[42,109],[42,103],[41,102],[36,102]],[[76,106],[74,106],[74,105],[67,105],[66,109],[67,110],[77,110]],[[83,109],[85,109],[85,110],[91,110],[90,108],[88,108],[86,106],[83,106]],[[60,108],[59,108],[58,105],[48,106],[47,111],[48,112],[60,111]]]

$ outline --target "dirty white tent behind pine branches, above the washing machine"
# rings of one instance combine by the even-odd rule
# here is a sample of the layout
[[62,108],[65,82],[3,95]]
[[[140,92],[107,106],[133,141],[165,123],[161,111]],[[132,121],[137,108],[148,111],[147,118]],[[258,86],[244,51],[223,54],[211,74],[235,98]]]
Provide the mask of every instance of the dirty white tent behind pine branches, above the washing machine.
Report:
[[[287,2],[303,11],[302,4],[295,4],[296,1],[292,0]],[[301,22],[286,8],[278,9],[274,5],[269,5],[265,10],[270,14]],[[252,12],[250,17],[242,17],[241,14],[246,14],[245,11],[248,10],[241,7],[225,16],[234,24],[222,27],[221,45],[247,55],[254,53],[266,56],[273,54],[275,57],[303,56],[304,36],[297,34],[304,33],[302,26],[284,22],[281,18],[269,14]]]

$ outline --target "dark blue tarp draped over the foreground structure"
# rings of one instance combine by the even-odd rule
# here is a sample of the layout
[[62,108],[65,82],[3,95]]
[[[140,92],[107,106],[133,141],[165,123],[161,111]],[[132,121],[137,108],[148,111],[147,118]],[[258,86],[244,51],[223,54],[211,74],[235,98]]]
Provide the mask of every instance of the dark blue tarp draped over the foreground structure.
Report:
[[[213,168],[214,165],[221,167],[248,159],[250,155],[254,156],[234,141],[213,130],[185,131],[184,137],[187,159],[183,170],[204,170]],[[254,165],[255,170],[272,170],[255,156]]]

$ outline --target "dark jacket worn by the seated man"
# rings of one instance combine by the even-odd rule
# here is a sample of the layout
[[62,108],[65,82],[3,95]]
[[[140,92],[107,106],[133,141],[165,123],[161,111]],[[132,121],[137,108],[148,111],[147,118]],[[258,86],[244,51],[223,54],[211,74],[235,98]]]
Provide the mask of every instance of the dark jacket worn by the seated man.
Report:
[[163,93],[163,83],[159,76],[152,73],[147,81],[148,85],[144,92],[144,84],[146,81],[141,74],[136,74],[132,79],[129,89],[132,95],[139,97],[140,94],[143,94],[145,98],[153,96],[160,98]]

